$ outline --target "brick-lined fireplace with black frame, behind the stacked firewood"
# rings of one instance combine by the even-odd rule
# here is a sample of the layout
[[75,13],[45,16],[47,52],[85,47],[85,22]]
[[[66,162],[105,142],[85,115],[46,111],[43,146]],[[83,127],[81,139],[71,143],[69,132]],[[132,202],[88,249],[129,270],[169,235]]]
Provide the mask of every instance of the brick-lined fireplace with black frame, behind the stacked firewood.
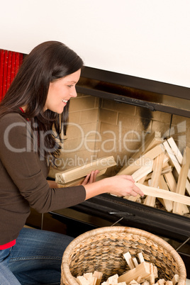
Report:
[[[59,171],[113,155],[117,165],[108,169],[106,176],[117,174],[155,132],[163,138],[174,138],[181,152],[190,145],[186,87],[85,67],[77,93],[70,104],[67,140],[57,160]],[[54,169],[50,177],[55,177]],[[51,214],[67,223],[68,233],[73,236],[113,224],[147,230],[179,248],[186,268],[190,265],[189,214],[180,216],[109,194]]]

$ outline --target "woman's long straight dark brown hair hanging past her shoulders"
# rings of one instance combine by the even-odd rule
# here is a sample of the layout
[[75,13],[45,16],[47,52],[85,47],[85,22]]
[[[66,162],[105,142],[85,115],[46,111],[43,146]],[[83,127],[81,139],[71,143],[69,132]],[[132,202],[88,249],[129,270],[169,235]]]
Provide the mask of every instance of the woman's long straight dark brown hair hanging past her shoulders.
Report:
[[[41,43],[26,55],[1,101],[0,118],[6,113],[20,113],[24,118],[28,118],[31,126],[35,125],[35,131],[37,125],[38,134],[40,131],[47,134],[43,142],[45,158],[48,155],[55,158],[60,155],[57,138],[61,140],[62,128],[66,134],[69,110],[67,102],[61,115],[50,110],[43,111],[50,82],[77,72],[82,67],[82,59],[63,43],[57,41]],[[25,113],[20,110],[21,106],[26,106]],[[52,127],[55,132],[52,131]]]

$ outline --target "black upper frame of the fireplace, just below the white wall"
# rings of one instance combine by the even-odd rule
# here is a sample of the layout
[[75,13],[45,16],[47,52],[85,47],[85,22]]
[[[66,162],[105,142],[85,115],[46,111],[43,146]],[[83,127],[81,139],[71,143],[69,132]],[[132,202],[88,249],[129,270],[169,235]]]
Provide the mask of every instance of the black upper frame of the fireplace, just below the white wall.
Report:
[[[105,82],[108,84],[116,84],[119,86],[127,86],[136,90],[142,90],[145,92],[150,92],[151,94],[157,96],[157,98],[162,95],[170,96],[171,100],[175,99],[190,99],[190,88],[185,86],[178,86],[174,84],[168,84],[164,82],[157,82],[155,80],[143,79],[140,77],[133,77],[126,74],[119,74],[116,72],[109,72],[102,69],[96,69],[92,67],[84,67],[82,69],[81,78],[89,79],[89,81],[97,80],[100,82]],[[82,94],[87,94],[91,96],[96,96],[102,99],[109,99],[116,101],[118,103],[132,104],[135,106],[140,106],[144,108],[150,109],[150,111],[162,111],[165,113],[172,113],[179,116],[185,116],[186,118],[190,118],[190,103],[189,108],[184,109],[180,108],[180,106],[167,106],[165,104],[160,104],[154,101],[146,101],[141,99],[136,99],[131,96],[122,96],[121,94],[113,93],[110,91],[105,91],[105,89],[96,88],[84,84],[80,84],[82,80],[79,80],[77,84],[77,92]]]

